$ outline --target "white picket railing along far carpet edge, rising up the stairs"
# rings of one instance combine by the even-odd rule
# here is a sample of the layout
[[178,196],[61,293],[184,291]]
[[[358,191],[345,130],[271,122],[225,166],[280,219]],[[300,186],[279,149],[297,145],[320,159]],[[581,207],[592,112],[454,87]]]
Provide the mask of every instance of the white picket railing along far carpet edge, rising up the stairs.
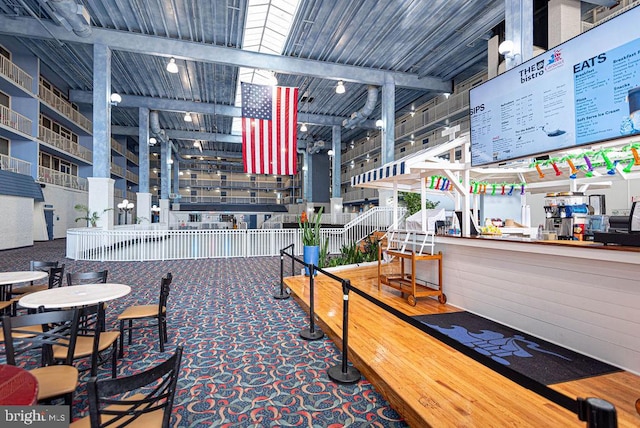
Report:
[[[336,254],[343,245],[359,241],[391,224],[390,208],[374,208],[344,228],[321,229],[321,242]],[[387,222],[385,224],[385,222]],[[154,227],[157,227],[153,225]],[[293,229],[165,230],[128,227],[116,230],[78,228],[67,230],[67,257],[94,261],[150,261],[223,257],[278,256],[294,244],[302,254],[301,232]]]

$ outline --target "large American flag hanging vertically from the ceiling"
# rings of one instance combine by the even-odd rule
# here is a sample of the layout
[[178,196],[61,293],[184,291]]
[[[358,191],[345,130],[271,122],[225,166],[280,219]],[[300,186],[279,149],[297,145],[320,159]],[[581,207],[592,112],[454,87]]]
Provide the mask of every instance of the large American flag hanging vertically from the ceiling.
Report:
[[298,88],[242,83],[241,90],[244,172],[294,175]]

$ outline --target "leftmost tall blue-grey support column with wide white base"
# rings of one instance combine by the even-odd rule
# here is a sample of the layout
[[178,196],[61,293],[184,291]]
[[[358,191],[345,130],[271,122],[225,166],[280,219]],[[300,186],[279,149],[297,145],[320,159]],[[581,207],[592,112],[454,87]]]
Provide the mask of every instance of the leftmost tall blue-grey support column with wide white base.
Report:
[[[113,228],[111,177],[111,50],[93,45],[93,177],[89,180],[89,210],[100,216],[98,225]],[[106,212],[104,210],[107,210]]]

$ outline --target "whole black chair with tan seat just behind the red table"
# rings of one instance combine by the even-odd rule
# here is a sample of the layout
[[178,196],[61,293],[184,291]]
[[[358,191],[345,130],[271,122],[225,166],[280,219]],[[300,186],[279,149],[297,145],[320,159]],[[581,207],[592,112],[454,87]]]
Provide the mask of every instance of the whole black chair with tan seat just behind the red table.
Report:
[[[76,343],[79,311],[65,310],[2,317],[7,364],[16,365],[16,357],[33,362],[40,351],[41,367],[29,370],[38,380],[38,401],[64,397],[73,403],[78,385],[78,369],[71,365]],[[34,330],[39,326],[39,331]],[[53,347],[64,349],[63,365],[53,365]]]

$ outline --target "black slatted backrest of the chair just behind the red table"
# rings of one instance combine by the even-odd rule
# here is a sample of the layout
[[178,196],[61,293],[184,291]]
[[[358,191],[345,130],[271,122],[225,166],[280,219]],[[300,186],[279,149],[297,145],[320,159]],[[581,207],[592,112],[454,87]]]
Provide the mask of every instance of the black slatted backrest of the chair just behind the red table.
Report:
[[[33,361],[31,351],[41,349],[42,366],[49,365],[53,361],[51,347],[60,345],[68,348],[65,364],[71,365],[76,346],[78,320],[79,311],[77,309],[17,315],[15,317],[3,316],[2,328],[7,364],[16,365],[16,356],[23,354],[25,354],[25,359],[29,358],[30,361]],[[34,330],[34,325],[41,325],[42,331]]]

